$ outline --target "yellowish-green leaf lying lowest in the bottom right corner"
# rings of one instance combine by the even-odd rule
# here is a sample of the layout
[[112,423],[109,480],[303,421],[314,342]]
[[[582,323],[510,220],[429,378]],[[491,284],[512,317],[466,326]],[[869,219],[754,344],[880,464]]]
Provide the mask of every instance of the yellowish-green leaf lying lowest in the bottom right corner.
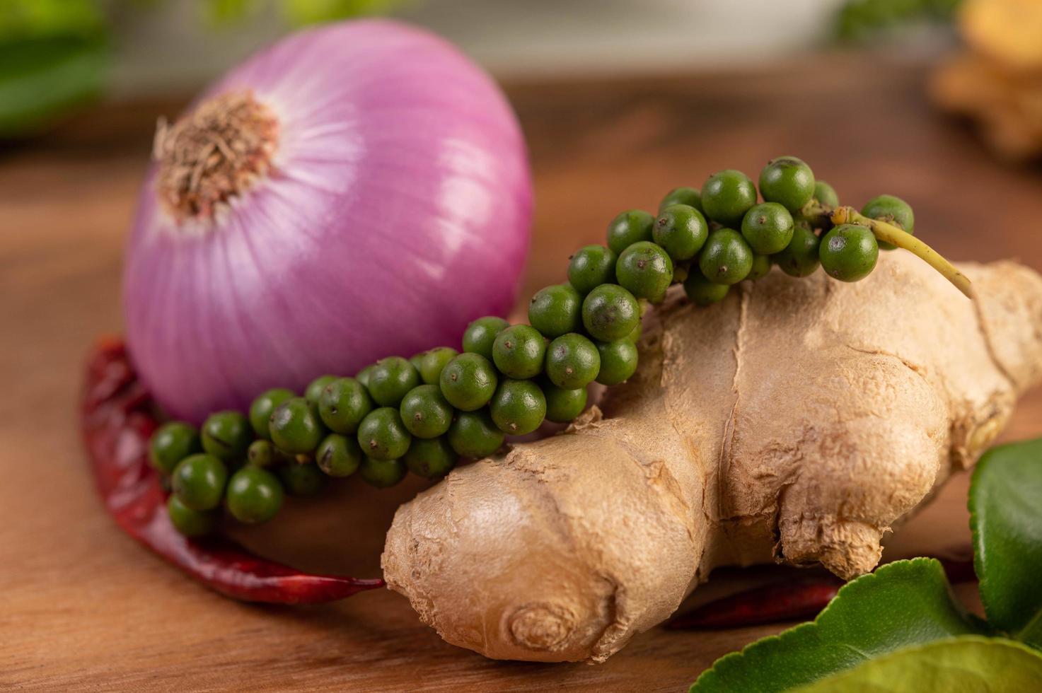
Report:
[[799,693],[1022,693],[1042,684],[1042,657],[1018,642],[962,636],[913,645]]

